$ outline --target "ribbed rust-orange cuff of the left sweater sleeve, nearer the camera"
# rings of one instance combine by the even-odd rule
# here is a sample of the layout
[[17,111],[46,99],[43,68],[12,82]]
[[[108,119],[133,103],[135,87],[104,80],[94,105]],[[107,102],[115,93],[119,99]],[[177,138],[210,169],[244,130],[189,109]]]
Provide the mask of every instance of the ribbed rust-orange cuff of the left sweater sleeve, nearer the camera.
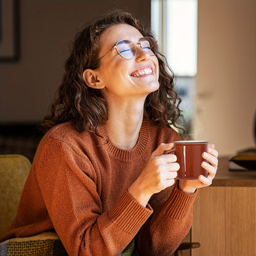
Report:
[[129,234],[137,234],[152,213],[151,206],[143,207],[126,191],[108,214],[111,221],[119,228]]

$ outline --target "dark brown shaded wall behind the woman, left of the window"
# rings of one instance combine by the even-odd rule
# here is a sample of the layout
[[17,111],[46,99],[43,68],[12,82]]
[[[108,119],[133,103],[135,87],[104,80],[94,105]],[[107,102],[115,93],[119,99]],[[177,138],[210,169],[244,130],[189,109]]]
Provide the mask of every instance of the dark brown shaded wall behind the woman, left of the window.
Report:
[[74,35],[93,17],[117,7],[150,23],[150,0],[20,0],[22,56],[17,63],[0,63],[0,122],[43,118]]

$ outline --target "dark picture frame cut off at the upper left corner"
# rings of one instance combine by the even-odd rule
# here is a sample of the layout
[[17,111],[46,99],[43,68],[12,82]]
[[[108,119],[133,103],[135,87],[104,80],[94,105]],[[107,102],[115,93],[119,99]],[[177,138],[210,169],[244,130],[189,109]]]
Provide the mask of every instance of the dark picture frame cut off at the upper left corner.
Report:
[[20,0],[0,0],[0,62],[20,59]]

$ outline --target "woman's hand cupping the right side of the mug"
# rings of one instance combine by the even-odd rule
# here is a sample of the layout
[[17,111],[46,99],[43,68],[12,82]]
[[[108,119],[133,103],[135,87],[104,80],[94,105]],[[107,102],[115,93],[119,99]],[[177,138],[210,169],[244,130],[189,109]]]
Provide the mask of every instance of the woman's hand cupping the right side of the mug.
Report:
[[215,150],[214,144],[209,144],[206,151],[202,154],[202,158],[208,162],[202,162],[202,167],[207,170],[207,177],[200,175],[198,180],[179,180],[178,188],[183,192],[192,194],[197,188],[203,188],[212,184],[218,167],[218,151]]

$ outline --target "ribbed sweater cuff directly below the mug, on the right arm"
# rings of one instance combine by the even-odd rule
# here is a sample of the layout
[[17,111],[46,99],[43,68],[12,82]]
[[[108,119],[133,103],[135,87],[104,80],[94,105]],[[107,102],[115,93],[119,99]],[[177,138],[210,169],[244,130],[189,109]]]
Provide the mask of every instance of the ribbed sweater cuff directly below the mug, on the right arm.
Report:
[[183,191],[178,189],[177,181],[172,190],[172,193],[167,199],[167,204],[164,207],[164,211],[166,211],[171,218],[184,218],[188,213],[188,210],[191,209],[197,193],[197,190],[193,194],[184,193]]

